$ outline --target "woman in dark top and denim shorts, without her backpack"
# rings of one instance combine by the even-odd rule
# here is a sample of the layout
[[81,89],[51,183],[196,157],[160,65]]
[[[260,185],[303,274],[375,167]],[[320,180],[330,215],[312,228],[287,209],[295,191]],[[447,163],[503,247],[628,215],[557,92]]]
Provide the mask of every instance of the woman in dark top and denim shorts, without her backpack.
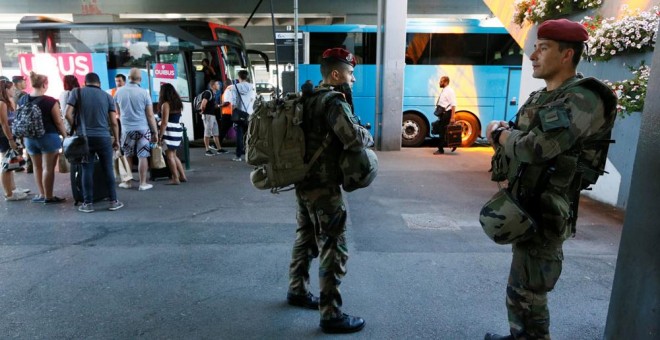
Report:
[[39,138],[23,138],[25,148],[32,158],[34,180],[39,188],[39,195],[32,199],[34,203],[61,203],[64,198],[53,195],[55,182],[55,165],[62,147],[60,136],[66,137],[66,129],[62,121],[60,105],[57,99],[47,96],[48,77],[30,72],[33,92],[26,105],[35,104],[41,110],[41,119],[46,133]]

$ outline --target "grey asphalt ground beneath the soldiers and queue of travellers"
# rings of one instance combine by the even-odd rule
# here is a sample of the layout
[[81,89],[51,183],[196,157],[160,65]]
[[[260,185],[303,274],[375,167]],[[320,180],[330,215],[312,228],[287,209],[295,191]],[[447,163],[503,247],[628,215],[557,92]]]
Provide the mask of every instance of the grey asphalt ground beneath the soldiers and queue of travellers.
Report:
[[[230,151],[233,151],[230,148]],[[345,194],[344,312],[354,339],[483,339],[507,334],[511,247],[490,241],[479,210],[497,190],[489,147],[379,152],[379,174]],[[10,339],[304,339],[319,314],[286,303],[295,237],[293,192],[249,181],[232,153],[190,150],[189,181],[117,189],[125,207],[0,202],[0,335]],[[137,174],[134,174],[137,177]],[[16,173],[20,187],[34,179]],[[135,186],[136,187],[136,186]],[[583,198],[577,236],[549,294],[553,339],[600,339],[623,212]],[[318,261],[310,272],[318,294]]]

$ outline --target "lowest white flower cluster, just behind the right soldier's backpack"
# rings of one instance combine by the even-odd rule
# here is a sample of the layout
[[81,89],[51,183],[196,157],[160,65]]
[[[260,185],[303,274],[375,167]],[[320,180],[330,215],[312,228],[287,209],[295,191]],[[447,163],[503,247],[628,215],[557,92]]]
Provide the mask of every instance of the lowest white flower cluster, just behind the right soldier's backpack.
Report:
[[644,109],[644,100],[646,99],[649,75],[651,74],[651,67],[644,65],[644,62],[637,68],[628,68],[633,74],[632,79],[616,82],[605,81],[616,92],[617,97],[619,97],[617,111],[622,117],[630,115],[633,112],[642,112]]

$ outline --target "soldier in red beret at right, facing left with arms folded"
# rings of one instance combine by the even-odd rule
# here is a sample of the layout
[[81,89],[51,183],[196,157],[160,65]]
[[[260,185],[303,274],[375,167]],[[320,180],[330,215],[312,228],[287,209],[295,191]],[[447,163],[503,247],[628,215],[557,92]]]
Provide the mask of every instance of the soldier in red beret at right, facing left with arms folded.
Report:
[[[589,182],[576,184],[577,164],[606,157],[607,148],[600,155],[602,148],[588,150],[586,145],[609,139],[615,117],[612,91],[601,91],[601,82],[576,74],[588,39],[585,28],[566,19],[549,20],[539,26],[537,38],[530,56],[533,77],[545,80],[546,88],[532,93],[512,126],[491,122],[487,127],[489,141],[499,149],[496,156],[506,157],[510,192],[536,229],[510,240],[506,306],[511,334],[487,333],[486,340],[550,339],[547,293],[561,274],[562,244],[574,232],[579,191]],[[482,210],[482,226],[484,217],[497,217],[491,213],[484,216]]]

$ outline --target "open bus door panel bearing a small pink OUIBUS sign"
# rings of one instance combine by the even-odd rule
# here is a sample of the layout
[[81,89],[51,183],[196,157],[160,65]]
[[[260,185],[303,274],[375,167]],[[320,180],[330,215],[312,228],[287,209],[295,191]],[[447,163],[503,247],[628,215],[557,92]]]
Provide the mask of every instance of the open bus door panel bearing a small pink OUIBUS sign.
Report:
[[[201,138],[204,127],[201,127],[201,133],[197,133],[197,125],[202,125],[201,120],[197,122],[193,116],[192,100],[195,97],[191,73],[193,71],[189,52],[164,52],[156,53],[156,64],[153,65],[152,84],[150,84],[152,101],[158,102],[158,93],[160,85],[170,83],[174,86],[183,102],[183,111],[181,112],[181,122],[186,126],[188,138]],[[191,128],[192,127],[192,128]]]

